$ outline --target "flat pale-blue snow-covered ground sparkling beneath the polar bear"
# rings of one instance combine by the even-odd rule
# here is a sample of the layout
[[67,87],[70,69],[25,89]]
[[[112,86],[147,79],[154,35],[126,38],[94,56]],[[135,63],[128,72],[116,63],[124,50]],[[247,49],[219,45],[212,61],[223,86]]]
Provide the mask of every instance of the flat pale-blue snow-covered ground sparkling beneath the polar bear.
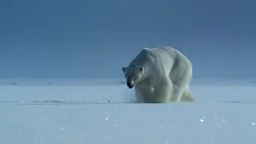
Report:
[[254,144],[254,81],[194,80],[195,103],[134,104],[122,80],[0,80],[2,144]]

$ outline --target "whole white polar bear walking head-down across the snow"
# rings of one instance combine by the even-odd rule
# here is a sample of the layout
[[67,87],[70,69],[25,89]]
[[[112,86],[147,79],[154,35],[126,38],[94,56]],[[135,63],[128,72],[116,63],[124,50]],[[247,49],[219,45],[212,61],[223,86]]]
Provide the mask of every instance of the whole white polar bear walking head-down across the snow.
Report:
[[138,103],[194,102],[192,63],[172,47],[143,48],[122,72]]

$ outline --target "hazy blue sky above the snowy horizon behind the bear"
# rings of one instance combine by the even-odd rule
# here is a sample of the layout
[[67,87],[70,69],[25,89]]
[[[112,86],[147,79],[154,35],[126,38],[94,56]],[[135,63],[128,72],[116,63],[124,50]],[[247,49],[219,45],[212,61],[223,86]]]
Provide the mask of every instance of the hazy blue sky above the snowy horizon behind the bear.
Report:
[[2,0],[1,78],[114,78],[173,46],[194,78],[256,78],[253,0]]

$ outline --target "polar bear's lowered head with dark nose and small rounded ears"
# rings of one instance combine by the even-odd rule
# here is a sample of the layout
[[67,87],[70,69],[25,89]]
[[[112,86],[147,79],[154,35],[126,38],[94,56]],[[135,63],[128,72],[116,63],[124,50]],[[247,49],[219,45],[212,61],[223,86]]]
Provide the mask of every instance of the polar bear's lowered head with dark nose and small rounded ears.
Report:
[[136,83],[138,83],[144,74],[143,66],[128,66],[122,67],[122,72],[126,77],[126,84],[129,89],[133,88]]

